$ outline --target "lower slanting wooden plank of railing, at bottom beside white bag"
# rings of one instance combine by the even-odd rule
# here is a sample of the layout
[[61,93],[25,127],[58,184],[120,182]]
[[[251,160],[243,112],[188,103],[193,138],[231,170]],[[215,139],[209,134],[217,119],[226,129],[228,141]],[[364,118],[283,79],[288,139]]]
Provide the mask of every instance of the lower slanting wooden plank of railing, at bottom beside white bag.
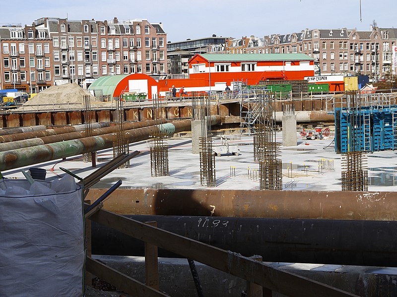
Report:
[[145,284],[142,284],[133,278],[125,275],[97,260],[87,257],[87,271],[91,272],[100,279],[115,286],[118,290],[123,291],[131,296],[136,297],[169,297],[169,295],[156,291]]

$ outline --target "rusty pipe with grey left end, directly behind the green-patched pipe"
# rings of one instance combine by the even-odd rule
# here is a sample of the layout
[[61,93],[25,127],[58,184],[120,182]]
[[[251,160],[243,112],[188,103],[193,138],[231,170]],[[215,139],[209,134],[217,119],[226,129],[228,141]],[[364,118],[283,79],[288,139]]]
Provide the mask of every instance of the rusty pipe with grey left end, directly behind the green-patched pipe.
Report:
[[[165,122],[165,120],[160,121],[160,123],[164,123],[164,122]],[[143,122],[125,123],[124,128],[125,128],[125,130],[131,130],[131,129],[153,126],[154,123],[155,122],[153,120],[143,121]],[[115,133],[115,132],[117,132],[118,129],[119,129],[118,125],[93,129],[91,131],[91,136]],[[64,133],[64,134],[59,134],[59,135],[51,135],[51,136],[33,138],[36,141],[32,141],[33,139],[26,139],[26,140],[14,141],[12,143],[0,143],[0,151],[6,151],[6,150],[11,150],[11,149],[16,149],[16,148],[28,148],[28,147],[33,147],[33,146],[52,144],[52,143],[56,143],[56,142],[66,141],[66,140],[84,138],[84,137],[86,137],[84,130],[85,130],[85,128],[78,129],[78,131],[76,131],[76,132],[69,132],[69,133]]]

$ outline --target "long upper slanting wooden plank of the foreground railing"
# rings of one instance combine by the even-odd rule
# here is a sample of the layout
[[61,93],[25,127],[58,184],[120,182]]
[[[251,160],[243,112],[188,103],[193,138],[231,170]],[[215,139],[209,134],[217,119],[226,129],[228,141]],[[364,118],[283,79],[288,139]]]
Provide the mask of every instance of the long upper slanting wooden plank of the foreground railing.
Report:
[[357,297],[308,278],[280,271],[230,251],[200,243],[147,224],[99,210],[91,220],[183,257],[249,280],[290,297]]

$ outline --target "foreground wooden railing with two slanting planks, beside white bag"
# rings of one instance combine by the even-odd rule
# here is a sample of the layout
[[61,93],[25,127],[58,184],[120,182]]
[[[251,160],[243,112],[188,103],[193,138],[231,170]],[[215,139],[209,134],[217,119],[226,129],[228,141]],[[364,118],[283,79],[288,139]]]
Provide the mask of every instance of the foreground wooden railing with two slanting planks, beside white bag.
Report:
[[[212,247],[198,241],[141,223],[115,213],[99,209],[89,217],[108,228],[113,228],[133,238],[137,238],[152,246],[163,248],[188,258],[247,280],[247,296],[262,296],[258,294],[258,286],[264,288],[264,296],[278,292],[290,297],[353,297],[354,294],[344,292],[331,286],[289,272],[281,271],[265,265],[252,258]],[[89,221],[88,221],[89,222]],[[146,257],[147,255],[145,255]],[[153,259],[152,259],[153,260]],[[145,258],[147,261],[147,258]],[[148,266],[146,266],[148,269]],[[142,284],[133,278],[108,267],[107,265],[87,258],[86,270],[102,280],[114,285],[118,290],[136,297],[168,296],[154,286]],[[147,280],[146,270],[146,283]],[[156,280],[150,279],[156,284]],[[157,286],[156,286],[157,287]],[[158,288],[158,287],[157,287]]]

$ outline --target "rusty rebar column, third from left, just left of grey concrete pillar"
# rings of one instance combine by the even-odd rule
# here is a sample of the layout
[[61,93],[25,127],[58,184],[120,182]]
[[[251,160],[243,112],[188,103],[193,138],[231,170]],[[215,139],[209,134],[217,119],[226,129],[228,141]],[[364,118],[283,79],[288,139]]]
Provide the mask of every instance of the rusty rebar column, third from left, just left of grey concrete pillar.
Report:
[[160,131],[162,118],[161,101],[153,97],[154,131],[150,134],[150,173],[152,177],[169,176],[168,145],[166,134]]

